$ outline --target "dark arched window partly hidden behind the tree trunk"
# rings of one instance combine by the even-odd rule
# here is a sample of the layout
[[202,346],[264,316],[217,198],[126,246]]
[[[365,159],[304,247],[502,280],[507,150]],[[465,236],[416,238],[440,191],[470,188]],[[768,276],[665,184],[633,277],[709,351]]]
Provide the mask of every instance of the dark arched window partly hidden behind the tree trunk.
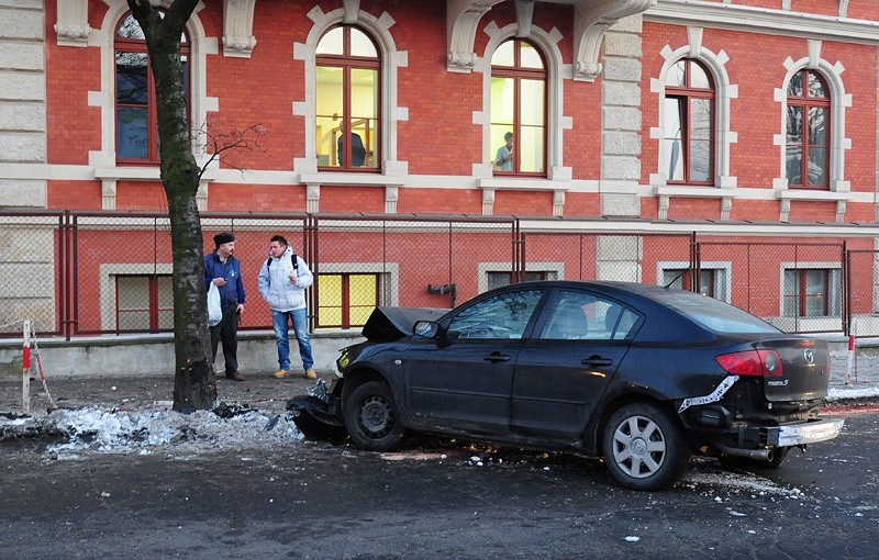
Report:
[[[120,163],[159,161],[156,88],[143,30],[129,13],[116,26],[115,40],[116,159]],[[187,103],[189,92],[189,40],[180,37]]]

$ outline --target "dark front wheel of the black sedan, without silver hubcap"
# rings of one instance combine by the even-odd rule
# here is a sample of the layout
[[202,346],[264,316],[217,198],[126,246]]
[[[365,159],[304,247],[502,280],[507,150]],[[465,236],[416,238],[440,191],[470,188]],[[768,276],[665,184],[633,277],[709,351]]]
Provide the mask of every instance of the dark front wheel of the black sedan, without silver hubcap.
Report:
[[345,400],[345,427],[360,449],[389,451],[403,439],[403,426],[391,389],[378,381],[356,387]]

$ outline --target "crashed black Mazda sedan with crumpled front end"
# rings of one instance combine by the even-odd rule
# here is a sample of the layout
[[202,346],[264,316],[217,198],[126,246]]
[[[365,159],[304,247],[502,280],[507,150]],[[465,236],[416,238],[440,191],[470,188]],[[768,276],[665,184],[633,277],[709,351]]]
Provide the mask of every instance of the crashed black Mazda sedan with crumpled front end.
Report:
[[452,310],[377,307],[338,379],[288,408],[307,437],[385,451],[407,432],[603,457],[657,490],[692,455],[778,467],[836,437],[830,355],[697,293],[623,282],[508,285]]

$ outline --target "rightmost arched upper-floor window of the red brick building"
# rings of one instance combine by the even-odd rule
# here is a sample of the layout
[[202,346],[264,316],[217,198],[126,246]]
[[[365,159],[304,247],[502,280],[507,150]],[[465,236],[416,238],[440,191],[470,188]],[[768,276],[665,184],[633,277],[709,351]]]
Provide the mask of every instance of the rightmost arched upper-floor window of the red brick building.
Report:
[[827,188],[831,96],[824,79],[800,70],[788,85],[785,160],[788,187]]

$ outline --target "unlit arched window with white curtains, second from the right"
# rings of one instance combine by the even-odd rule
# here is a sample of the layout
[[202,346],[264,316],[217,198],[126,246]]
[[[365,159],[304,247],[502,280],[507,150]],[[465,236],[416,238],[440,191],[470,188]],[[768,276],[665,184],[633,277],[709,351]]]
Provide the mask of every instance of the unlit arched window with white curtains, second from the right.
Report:
[[666,74],[663,154],[669,183],[714,184],[714,80],[683,58]]

